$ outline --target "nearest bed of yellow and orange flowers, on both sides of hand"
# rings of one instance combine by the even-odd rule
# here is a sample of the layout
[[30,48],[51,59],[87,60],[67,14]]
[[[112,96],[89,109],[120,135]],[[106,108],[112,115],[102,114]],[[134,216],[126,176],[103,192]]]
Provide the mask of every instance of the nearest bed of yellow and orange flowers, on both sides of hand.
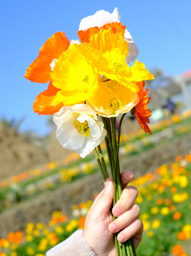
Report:
[[[139,190],[137,203],[144,223],[140,256],[189,256],[191,238],[191,154],[178,155],[170,166],[162,165],[154,173],[137,178],[132,185]],[[50,222],[28,223],[25,232],[11,232],[0,239],[0,256],[45,256],[52,246],[76,229],[83,229],[91,201],[73,205],[73,218],[54,212]],[[190,254],[191,255],[191,254]]]

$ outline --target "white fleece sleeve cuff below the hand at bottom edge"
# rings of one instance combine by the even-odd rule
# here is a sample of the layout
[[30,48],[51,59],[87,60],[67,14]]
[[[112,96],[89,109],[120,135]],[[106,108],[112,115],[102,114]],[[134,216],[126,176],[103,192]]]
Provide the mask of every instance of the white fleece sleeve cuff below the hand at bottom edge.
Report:
[[46,256],[97,256],[83,236],[83,229],[47,251]]

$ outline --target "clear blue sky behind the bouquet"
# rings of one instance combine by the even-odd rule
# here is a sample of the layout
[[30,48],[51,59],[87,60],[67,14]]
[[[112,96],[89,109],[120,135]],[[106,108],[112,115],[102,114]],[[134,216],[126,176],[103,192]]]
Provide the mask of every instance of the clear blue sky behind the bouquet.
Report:
[[25,79],[27,67],[52,34],[62,31],[75,40],[81,19],[101,9],[112,13],[115,7],[139,48],[137,60],[146,68],[162,68],[166,75],[191,69],[190,0],[2,0],[0,118],[25,117],[23,131],[47,134],[47,116],[37,116],[32,110],[47,84]]

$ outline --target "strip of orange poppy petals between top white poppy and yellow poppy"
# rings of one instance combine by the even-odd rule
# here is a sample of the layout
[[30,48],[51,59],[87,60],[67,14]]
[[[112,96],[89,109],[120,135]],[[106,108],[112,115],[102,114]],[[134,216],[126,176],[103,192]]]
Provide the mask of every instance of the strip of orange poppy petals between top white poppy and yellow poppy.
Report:
[[92,35],[97,34],[100,31],[103,30],[110,30],[111,34],[119,34],[124,39],[124,33],[125,33],[126,26],[122,26],[121,22],[112,22],[105,24],[102,27],[89,27],[87,30],[80,30],[77,32],[78,37],[80,38],[80,41],[82,43],[89,43],[90,38]]

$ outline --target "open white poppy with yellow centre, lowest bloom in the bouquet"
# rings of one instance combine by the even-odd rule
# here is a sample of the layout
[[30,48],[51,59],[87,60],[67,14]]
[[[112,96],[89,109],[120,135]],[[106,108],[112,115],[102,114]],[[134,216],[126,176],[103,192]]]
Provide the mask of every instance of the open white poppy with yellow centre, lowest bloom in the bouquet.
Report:
[[96,112],[85,104],[64,106],[53,116],[60,144],[75,150],[81,157],[88,155],[105,138],[106,130]]

